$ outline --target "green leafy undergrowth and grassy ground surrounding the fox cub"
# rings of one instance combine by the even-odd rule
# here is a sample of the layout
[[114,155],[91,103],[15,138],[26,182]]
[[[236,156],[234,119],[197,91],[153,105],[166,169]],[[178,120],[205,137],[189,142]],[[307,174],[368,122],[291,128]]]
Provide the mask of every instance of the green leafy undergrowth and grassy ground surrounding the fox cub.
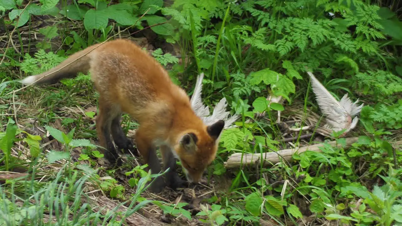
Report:
[[[0,2],[0,30],[11,37],[0,55],[1,226],[402,225],[402,23],[394,4],[57,3]],[[27,31],[39,38],[28,41]],[[242,115],[223,132],[199,185],[153,194],[147,186],[157,175],[135,153],[122,154],[120,168],[109,165],[97,146],[98,95],[88,74],[12,92],[18,79],[116,37],[150,51],[189,95],[204,72],[204,102],[226,97]],[[347,93],[365,104],[346,138],[320,130],[325,119],[306,70],[337,99]],[[133,139],[137,123],[124,115],[121,125]],[[324,143],[320,152],[274,164],[225,164],[235,153],[314,143]]]

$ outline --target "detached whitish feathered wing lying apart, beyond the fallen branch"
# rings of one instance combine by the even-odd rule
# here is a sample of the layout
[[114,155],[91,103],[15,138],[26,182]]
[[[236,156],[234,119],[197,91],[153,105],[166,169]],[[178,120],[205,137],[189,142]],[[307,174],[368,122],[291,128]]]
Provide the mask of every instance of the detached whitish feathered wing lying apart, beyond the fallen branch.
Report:
[[361,111],[363,104],[357,106],[359,100],[352,103],[347,94],[338,102],[321,84],[321,82],[317,80],[313,73],[307,73],[311,78],[311,84],[313,92],[316,95],[318,106],[326,116],[327,124],[324,127],[335,131],[346,129],[344,134],[353,129],[357,125],[359,118],[355,117],[352,120],[351,117],[357,115]]

